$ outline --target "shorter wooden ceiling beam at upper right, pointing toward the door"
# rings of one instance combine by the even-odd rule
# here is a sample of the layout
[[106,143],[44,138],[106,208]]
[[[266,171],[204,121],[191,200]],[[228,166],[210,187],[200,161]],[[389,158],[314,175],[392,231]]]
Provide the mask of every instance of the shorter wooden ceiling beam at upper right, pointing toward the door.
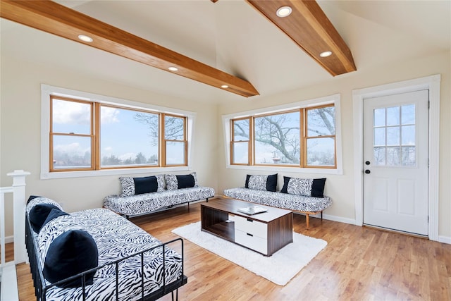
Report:
[[[331,75],[357,70],[350,49],[316,1],[246,1],[285,32]],[[290,16],[280,18],[276,15],[276,11],[282,6],[292,8]],[[332,54],[321,57],[323,51],[332,51]]]

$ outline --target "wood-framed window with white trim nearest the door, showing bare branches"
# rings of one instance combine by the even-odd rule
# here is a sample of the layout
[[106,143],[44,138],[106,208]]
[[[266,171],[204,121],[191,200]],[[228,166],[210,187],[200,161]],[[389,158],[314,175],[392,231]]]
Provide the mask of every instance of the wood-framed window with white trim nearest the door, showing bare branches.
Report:
[[228,167],[340,173],[339,114],[340,97],[333,95],[223,116]]

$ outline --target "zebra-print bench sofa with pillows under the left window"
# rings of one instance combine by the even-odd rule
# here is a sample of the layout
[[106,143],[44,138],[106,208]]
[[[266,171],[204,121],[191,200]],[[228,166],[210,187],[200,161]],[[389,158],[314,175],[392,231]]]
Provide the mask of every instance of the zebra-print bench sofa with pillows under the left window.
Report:
[[199,186],[196,173],[156,175],[142,178],[121,177],[120,195],[104,198],[104,207],[118,214],[135,216],[214,197],[213,188]]

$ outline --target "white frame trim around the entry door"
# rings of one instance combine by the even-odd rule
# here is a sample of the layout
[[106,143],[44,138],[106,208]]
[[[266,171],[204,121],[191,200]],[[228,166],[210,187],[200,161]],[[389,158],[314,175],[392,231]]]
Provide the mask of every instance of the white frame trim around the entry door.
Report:
[[429,90],[429,116],[428,116],[428,237],[438,241],[438,195],[439,195],[439,137],[440,137],[440,74],[394,82],[387,85],[352,90],[354,111],[354,199],[355,224],[362,226],[363,214],[363,113],[364,99],[381,97],[404,92]]

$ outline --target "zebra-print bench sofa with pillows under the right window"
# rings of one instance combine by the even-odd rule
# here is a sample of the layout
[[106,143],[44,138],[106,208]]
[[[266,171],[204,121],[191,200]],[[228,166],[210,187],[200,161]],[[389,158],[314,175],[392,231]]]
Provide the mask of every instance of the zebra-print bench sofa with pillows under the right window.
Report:
[[332,199],[323,195],[326,178],[301,179],[283,177],[284,185],[276,191],[277,174],[269,176],[247,175],[245,187],[224,190],[224,195],[233,199],[264,204],[305,214],[307,229],[309,216],[321,214],[332,204]]

